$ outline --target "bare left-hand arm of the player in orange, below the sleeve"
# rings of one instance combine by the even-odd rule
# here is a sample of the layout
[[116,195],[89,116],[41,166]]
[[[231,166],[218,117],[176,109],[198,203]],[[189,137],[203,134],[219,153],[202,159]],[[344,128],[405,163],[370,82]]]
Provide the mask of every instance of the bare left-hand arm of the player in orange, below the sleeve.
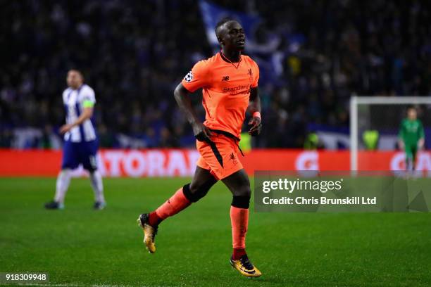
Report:
[[174,91],[175,101],[177,101],[178,106],[185,114],[189,124],[192,125],[193,134],[198,141],[211,141],[211,130],[199,120],[196,115],[196,111],[192,106],[192,99],[190,98],[190,92],[182,85],[178,84]]

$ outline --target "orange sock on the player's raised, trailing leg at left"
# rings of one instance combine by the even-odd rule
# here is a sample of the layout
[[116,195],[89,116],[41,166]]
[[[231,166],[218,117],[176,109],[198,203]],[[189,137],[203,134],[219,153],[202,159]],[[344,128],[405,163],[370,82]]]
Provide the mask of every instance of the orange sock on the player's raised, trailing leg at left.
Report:
[[181,210],[187,208],[190,205],[190,201],[185,197],[182,192],[182,188],[178,189],[177,192],[173,196],[171,196],[165,203],[159,206],[155,212],[151,212],[151,214],[156,215],[156,224],[151,224],[154,220],[151,220],[150,214],[150,225],[157,225],[163,219],[166,219],[170,216],[176,215]]

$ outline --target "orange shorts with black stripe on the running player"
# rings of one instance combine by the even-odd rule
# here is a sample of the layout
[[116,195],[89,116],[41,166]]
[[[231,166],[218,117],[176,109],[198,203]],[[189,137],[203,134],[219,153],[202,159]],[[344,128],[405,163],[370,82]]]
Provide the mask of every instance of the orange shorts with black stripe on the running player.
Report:
[[201,157],[196,162],[198,167],[210,170],[216,179],[224,179],[230,174],[242,170],[242,163],[238,158],[239,148],[235,139],[230,139],[223,134],[211,136],[213,144],[205,141],[196,141],[196,148]]

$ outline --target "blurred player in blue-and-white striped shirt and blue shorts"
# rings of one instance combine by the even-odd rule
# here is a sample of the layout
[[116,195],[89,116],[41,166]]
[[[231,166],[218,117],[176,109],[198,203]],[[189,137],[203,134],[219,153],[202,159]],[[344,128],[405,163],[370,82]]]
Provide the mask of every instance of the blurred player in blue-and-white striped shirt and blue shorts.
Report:
[[68,191],[72,170],[80,164],[89,172],[94,190],[94,209],[104,209],[104,186],[97,170],[96,153],[98,139],[92,122],[96,97],[94,91],[84,84],[84,77],[78,70],[69,70],[66,79],[68,89],[63,91],[66,110],[66,124],[60,128],[64,134],[63,162],[57,177],[54,200],[46,203],[46,209],[63,209],[65,193]]

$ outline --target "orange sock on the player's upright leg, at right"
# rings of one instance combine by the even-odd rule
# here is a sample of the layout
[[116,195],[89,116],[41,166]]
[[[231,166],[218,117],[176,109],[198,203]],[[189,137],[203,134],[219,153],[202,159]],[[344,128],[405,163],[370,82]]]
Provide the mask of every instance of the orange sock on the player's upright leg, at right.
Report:
[[[249,209],[235,208],[230,206],[230,223],[232,224],[232,245],[234,251],[242,250],[242,252],[234,252],[235,257],[245,254],[245,236],[247,227],[249,226]],[[239,260],[239,258],[233,260]]]

